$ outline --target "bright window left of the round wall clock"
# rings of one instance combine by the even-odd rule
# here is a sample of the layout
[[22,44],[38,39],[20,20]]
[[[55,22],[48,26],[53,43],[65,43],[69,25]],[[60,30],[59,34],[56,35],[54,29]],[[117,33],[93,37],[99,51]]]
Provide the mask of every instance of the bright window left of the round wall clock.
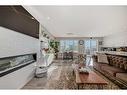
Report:
[[78,40],[61,40],[60,52],[65,51],[78,52]]

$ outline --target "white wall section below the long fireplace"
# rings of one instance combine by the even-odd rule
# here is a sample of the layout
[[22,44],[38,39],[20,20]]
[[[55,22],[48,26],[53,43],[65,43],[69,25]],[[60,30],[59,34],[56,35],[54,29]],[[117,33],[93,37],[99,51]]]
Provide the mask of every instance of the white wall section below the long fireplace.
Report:
[[0,89],[20,89],[34,77],[35,62],[0,77]]

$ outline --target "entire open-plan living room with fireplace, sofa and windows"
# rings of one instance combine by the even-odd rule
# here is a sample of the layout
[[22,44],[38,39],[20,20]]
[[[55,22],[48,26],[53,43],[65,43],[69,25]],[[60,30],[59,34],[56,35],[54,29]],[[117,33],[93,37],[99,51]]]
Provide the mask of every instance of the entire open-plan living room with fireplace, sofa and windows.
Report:
[[127,6],[1,5],[0,89],[127,89]]

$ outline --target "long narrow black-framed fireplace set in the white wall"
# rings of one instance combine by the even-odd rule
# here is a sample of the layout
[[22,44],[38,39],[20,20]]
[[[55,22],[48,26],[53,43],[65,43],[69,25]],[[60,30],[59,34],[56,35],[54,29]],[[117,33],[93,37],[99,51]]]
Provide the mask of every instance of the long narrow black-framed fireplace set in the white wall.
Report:
[[0,77],[19,70],[36,61],[36,54],[0,58]]

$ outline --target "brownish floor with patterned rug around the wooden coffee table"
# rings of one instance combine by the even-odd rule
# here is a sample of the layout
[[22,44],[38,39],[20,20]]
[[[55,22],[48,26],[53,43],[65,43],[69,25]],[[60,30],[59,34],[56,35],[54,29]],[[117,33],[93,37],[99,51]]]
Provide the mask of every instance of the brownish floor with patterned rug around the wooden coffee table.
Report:
[[[73,61],[54,61],[48,69],[47,76],[44,76],[43,78],[33,78],[23,87],[23,89],[77,89],[72,64]],[[104,89],[119,89],[113,82],[96,70],[94,71],[108,82],[108,85],[105,86]],[[86,85],[83,89],[97,89],[97,86]]]

